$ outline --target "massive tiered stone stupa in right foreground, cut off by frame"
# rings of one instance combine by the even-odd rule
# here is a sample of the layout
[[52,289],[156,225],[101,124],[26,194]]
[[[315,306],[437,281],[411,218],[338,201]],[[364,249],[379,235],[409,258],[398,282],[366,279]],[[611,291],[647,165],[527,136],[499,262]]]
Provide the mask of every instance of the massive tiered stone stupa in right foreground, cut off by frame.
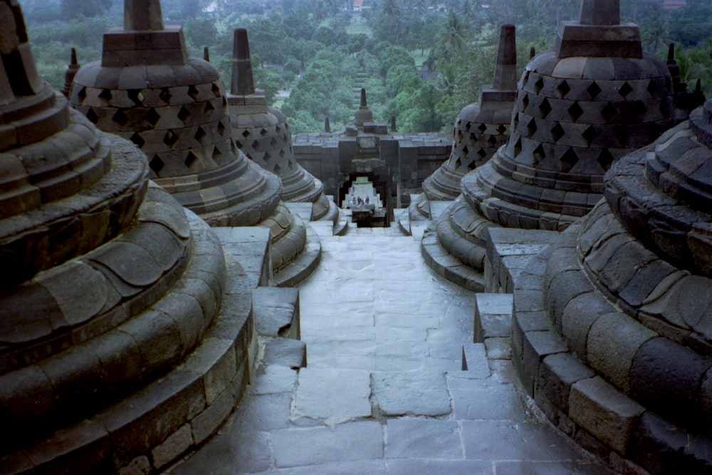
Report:
[[605,199],[515,287],[525,390],[627,473],[712,469],[711,185],[708,100],[615,163]]

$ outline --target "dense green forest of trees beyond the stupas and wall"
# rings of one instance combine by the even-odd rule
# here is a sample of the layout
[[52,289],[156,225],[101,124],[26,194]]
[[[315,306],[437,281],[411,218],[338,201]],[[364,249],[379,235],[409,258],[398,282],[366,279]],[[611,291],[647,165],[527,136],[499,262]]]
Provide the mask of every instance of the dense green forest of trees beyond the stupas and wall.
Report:
[[[38,68],[56,88],[70,48],[97,61],[103,32],[123,23],[122,0],[23,0]],[[209,46],[230,82],[234,28],[247,28],[256,84],[294,132],[332,130],[353,118],[367,90],[375,120],[397,118],[404,132],[446,131],[491,83],[498,28],[517,26],[518,65],[530,47],[553,48],[560,21],[581,0],[163,0],[166,24],[182,24],[192,56]],[[644,49],[664,57],[676,43],[683,80],[700,78],[712,97],[712,2],[621,0],[622,21],[641,27]]]

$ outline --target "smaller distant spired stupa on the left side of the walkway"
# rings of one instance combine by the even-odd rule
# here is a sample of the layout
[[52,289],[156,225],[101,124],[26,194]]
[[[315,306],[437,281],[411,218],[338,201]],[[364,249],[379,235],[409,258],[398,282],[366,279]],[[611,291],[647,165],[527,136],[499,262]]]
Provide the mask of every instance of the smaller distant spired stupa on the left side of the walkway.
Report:
[[255,89],[247,31],[234,32],[229,114],[237,146],[250,160],[282,180],[286,202],[313,203],[311,219],[338,219],[336,204],[324,195],[323,184],[294,157],[287,119]]

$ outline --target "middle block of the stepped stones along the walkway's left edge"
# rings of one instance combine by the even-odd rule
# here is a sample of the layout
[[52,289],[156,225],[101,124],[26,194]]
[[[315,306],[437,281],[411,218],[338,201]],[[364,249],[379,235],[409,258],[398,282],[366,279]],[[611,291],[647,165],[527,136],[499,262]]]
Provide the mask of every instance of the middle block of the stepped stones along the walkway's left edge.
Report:
[[300,339],[299,290],[258,287],[252,291],[252,314],[258,335]]

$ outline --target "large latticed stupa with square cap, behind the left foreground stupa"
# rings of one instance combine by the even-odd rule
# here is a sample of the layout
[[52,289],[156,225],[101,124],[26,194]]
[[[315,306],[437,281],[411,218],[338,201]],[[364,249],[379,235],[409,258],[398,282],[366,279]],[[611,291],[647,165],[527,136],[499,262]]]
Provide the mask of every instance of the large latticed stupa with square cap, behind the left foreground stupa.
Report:
[[218,72],[188,58],[182,28],[164,26],[158,0],[125,3],[124,28],[105,33],[102,60],[78,71],[70,100],[134,142],[150,177],[211,226],[268,227],[276,273],[305,249],[305,226],[280,201],[279,178],[233,140]]

